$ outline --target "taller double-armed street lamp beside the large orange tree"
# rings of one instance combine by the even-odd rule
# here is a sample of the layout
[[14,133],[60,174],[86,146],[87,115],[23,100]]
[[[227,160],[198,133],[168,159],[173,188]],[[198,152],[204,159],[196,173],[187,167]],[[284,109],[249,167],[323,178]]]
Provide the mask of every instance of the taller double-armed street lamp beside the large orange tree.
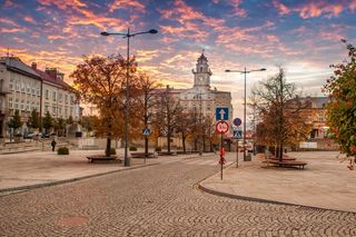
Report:
[[130,67],[130,38],[144,34],[144,33],[157,33],[158,31],[155,29],[151,29],[149,31],[142,31],[142,32],[136,32],[130,33],[130,28],[127,29],[126,33],[119,33],[119,32],[101,32],[100,34],[103,37],[108,36],[121,36],[123,39],[127,38],[127,67],[126,67],[126,101],[125,101],[125,166],[130,166],[130,159],[128,157],[128,122],[129,122],[129,67]]

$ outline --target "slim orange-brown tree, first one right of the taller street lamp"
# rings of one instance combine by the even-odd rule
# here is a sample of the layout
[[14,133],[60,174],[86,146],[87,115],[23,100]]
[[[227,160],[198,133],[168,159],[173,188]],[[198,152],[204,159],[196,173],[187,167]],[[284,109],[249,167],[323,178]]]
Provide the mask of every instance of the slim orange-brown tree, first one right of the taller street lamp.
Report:
[[[155,91],[159,86],[160,85],[147,75],[141,73],[138,77],[138,91],[135,101],[137,106],[136,113],[139,117],[142,128],[148,128],[154,122],[154,107],[157,105]],[[148,156],[148,136],[145,136],[145,156]]]

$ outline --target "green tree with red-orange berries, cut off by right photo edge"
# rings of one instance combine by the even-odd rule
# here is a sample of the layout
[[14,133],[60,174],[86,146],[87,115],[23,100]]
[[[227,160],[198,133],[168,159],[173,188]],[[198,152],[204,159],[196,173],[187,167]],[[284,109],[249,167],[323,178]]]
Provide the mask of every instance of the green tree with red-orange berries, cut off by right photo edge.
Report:
[[356,49],[346,40],[343,42],[348,49],[348,60],[330,66],[334,76],[324,87],[332,98],[327,105],[327,124],[340,152],[356,160]]

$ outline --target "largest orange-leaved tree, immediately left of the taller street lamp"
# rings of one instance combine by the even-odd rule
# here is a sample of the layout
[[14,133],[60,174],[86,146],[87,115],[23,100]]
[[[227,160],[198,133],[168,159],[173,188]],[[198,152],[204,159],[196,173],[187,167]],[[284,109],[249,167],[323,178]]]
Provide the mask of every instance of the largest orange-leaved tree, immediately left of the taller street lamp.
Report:
[[[129,65],[130,75],[134,75],[136,72],[135,58]],[[120,55],[83,57],[83,62],[78,65],[70,75],[82,99],[95,105],[100,113],[99,118],[102,119],[100,125],[106,127],[106,156],[110,155],[112,125],[118,124],[115,119],[122,122],[122,116],[118,116],[118,110],[120,109],[122,115],[125,89],[129,89],[125,88],[126,68],[127,61]]]

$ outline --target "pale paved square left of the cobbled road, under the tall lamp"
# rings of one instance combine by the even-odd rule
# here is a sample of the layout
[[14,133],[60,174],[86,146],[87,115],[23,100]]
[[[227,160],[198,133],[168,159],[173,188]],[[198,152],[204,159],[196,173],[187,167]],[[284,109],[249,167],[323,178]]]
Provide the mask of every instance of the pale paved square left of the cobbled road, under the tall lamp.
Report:
[[[123,157],[123,149],[117,149]],[[69,156],[58,156],[51,151],[21,152],[0,156],[0,195],[1,192],[23,190],[53,184],[93,177],[102,174],[152,166],[159,162],[172,161],[197,155],[131,159],[131,167],[123,164],[96,162],[89,164],[87,156],[100,155],[103,150],[70,150]]]

